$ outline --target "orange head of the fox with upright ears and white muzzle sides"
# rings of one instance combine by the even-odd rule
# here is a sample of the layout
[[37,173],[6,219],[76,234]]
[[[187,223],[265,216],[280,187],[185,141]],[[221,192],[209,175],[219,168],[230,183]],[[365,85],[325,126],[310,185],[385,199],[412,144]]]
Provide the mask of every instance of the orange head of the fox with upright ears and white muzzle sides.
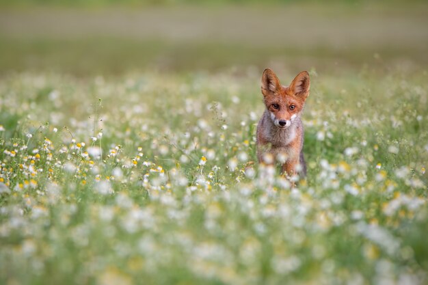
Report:
[[309,74],[302,71],[289,86],[281,85],[275,72],[266,68],[262,76],[263,102],[278,128],[288,128],[303,111],[309,95]]

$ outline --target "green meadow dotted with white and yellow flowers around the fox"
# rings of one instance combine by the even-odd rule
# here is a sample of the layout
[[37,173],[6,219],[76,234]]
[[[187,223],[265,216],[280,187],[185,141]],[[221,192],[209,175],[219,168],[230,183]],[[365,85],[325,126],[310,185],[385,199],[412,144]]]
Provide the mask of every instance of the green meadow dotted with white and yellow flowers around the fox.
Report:
[[[40,38],[12,26],[0,31],[16,58],[0,55],[1,284],[427,284],[425,39],[314,47],[290,65],[275,46],[235,57],[226,45],[210,61],[208,43],[153,69],[107,39],[81,68],[76,46],[46,36],[49,53],[28,49]],[[284,84],[311,77],[295,188],[256,161],[260,66],[273,62]]]

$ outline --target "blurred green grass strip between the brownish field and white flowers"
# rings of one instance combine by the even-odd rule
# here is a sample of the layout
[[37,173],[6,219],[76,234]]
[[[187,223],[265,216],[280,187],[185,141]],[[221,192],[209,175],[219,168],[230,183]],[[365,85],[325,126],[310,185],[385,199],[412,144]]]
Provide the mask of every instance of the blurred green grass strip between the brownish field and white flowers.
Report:
[[[286,62],[286,68],[310,68],[324,72],[356,72],[362,64],[379,68],[398,66],[405,57],[414,66],[425,65],[424,55],[407,48],[382,50],[382,58],[373,49],[335,50],[323,46],[298,48],[295,46],[243,46],[234,43],[165,42],[165,40],[137,40],[129,38],[16,39],[0,38],[0,76],[10,72],[61,72],[78,77],[104,74],[120,76],[145,70],[163,72],[192,72],[225,69],[264,68],[269,62]],[[398,59],[397,59],[398,58]]]

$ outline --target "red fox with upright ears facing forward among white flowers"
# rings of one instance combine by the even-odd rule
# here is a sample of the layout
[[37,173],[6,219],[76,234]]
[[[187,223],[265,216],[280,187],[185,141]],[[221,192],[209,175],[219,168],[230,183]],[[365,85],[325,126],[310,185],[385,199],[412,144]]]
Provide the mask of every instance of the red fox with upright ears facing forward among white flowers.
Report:
[[308,72],[300,72],[289,86],[283,86],[267,68],[261,87],[266,109],[257,126],[258,162],[273,164],[276,160],[282,163],[282,174],[306,176],[300,116],[309,95]]

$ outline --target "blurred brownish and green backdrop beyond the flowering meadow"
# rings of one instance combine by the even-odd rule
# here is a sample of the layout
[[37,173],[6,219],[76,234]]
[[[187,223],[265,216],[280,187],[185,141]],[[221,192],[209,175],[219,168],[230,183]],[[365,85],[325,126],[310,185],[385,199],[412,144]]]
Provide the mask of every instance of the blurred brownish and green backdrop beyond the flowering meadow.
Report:
[[0,76],[425,69],[428,1],[0,0]]

